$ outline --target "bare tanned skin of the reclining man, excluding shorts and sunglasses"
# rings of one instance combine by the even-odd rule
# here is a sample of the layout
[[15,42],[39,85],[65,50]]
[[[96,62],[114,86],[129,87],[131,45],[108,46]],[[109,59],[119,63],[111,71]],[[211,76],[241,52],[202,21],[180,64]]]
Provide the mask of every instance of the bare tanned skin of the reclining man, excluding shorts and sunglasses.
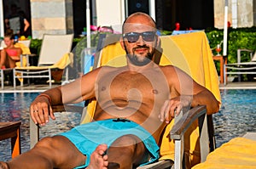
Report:
[[[125,23],[139,25],[125,26],[124,33],[152,31],[155,27],[146,14],[133,14]],[[143,61],[148,53],[154,54],[159,38],[156,37],[154,42],[145,42],[140,36],[137,42],[129,43],[125,39],[120,39],[120,42],[126,52],[137,54],[138,60]],[[144,45],[148,48],[133,50]],[[95,121],[117,117],[135,121],[151,132],[157,143],[164,127],[172,121],[175,110],[179,113],[183,106],[194,107],[198,104],[206,104],[208,114],[218,112],[219,109],[218,101],[212,93],[194,82],[182,70],[171,65],[155,65],[154,62],[137,66],[131,64],[129,59],[125,67],[104,66],[75,82],[49,89],[44,94],[49,95],[52,105],[96,98],[98,104]],[[45,96],[39,95],[30,109],[32,120],[39,125],[45,125],[49,118],[55,120],[49,99]],[[104,145],[102,143],[91,155],[89,169],[132,168],[148,157],[143,142],[133,135],[118,138],[108,148],[108,155],[103,155],[107,149]],[[67,138],[55,136],[39,141],[32,150],[10,161],[9,166],[18,168],[24,164],[26,168],[72,168],[83,165],[85,160],[86,156]]]

